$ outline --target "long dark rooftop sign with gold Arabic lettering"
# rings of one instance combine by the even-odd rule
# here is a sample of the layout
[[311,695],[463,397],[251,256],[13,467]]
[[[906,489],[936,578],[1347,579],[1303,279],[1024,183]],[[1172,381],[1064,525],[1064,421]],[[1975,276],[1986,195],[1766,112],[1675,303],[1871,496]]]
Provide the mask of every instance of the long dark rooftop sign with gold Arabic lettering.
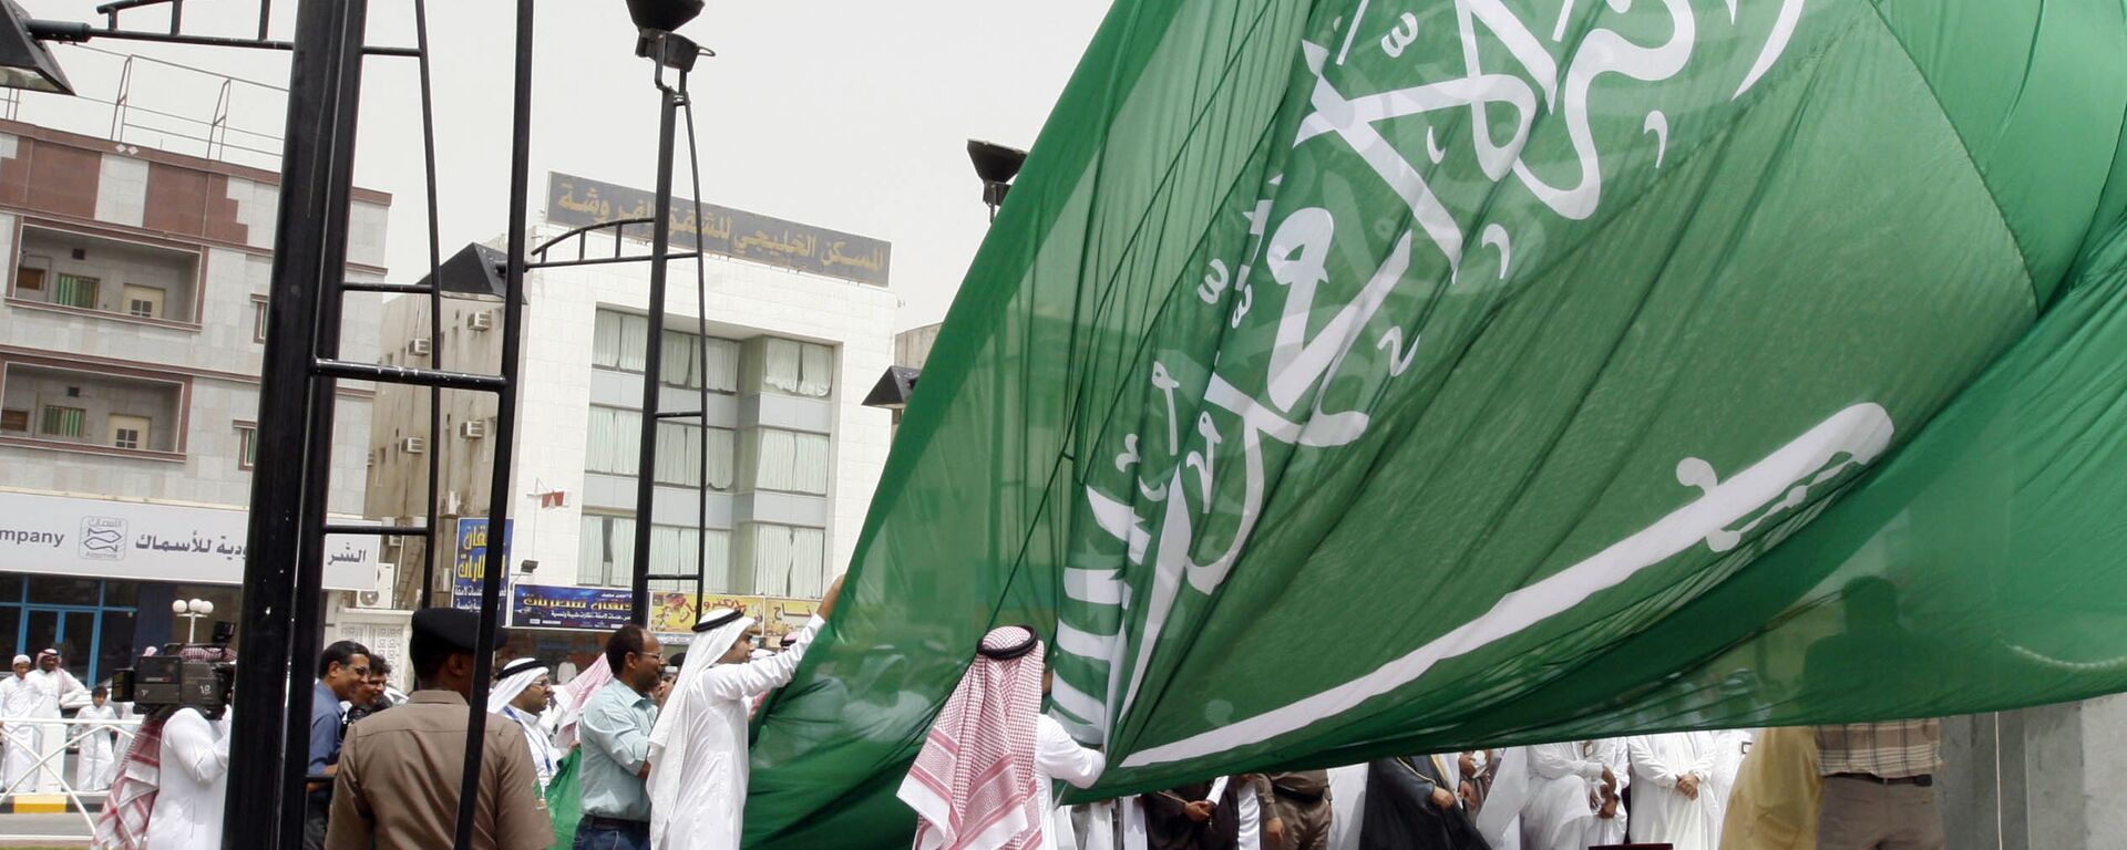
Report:
[[[559,172],[547,174],[547,221],[557,225],[583,227],[651,219],[655,210],[657,196],[651,191]],[[649,240],[651,225],[649,221],[632,225],[627,234]],[[693,204],[683,198],[672,200],[672,246],[874,287],[887,285],[887,266],[893,259],[893,244],[885,240],[727,206],[702,204],[702,219],[696,219]]]

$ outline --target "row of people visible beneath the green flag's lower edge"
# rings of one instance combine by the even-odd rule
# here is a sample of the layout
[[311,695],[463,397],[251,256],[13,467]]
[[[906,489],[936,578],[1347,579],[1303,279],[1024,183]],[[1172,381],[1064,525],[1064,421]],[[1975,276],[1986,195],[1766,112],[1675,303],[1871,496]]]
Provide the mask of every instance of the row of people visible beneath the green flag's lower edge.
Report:
[[[1038,742],[1042,780],[1100,774],[1051,761]],[[1938,720],[1691,731],[1229,776],[1055,810],[1034,829],[1064,850],[1929,850],[1944,846],[1940,767]],[[944,774],[902,788],[923,829],[987,816],[936,805],[932,776]]]

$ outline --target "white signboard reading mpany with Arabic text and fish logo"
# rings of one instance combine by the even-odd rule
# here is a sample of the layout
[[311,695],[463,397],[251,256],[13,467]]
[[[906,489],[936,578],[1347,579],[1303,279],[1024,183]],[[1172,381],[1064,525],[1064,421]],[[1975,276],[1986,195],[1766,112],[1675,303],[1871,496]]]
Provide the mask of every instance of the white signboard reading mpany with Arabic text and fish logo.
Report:
[[[0,572],[242,584],[247,512],[0,491]],[[325,586],[376,589],[376,538],[325,540]]]

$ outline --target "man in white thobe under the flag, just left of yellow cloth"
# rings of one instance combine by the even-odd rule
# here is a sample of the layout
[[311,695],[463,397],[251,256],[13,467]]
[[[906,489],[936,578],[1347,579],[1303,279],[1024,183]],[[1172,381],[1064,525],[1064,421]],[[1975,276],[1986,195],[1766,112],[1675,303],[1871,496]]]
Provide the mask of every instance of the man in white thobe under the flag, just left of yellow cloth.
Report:
[[1631,750],[1631,839],[1672,844],[1676,850],[1719,850],[1721,820],[1714,820],[1708,782],[1721,756],[1710,731],[1636,735]]

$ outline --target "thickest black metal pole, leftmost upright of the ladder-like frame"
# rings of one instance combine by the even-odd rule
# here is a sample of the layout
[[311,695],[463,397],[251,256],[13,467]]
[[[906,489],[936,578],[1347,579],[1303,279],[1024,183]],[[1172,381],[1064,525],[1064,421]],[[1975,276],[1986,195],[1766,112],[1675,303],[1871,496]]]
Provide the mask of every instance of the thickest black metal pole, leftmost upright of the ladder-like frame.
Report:
[[[308,455],[313,444],[330,450],[332,442],[330,431],[311,431],[311,410],[319,404],[330,410],[332,402],[332,380],[313,378],[317,353],[311,344],[328,304],[336,302],[336,293],[328,298],[328,285],[345,274],[345,261],[334,257],[345,257],[347,244],[364,19],[366,0],[308,0],[296,21],[259,380],[259,436],[294,457],[259,463],[251,480],[245,631],[238,640],[242,663],[234,697],[245,733],[234,737],[230,750],[228,810],[253,816],[228,820],[221,846],[232,850],[285,848],[302,837],[300,771],[308,765],[308,740],[294,746],[294,737],[298,729],[308,731],[311,688],[302,672],[315,659],[296,654],[296,642],[317,629],[317,620],[300,618],[298,593],[317,589],[325,506],[308,502],[304,463],[289,461]],[[332,230],[330,221],[342,221],[342,227]],[[330,314],[338,314],[336,304]],[[306,644],[315,646],[317,635],[311,633]],[[302,716],[300,727],[291,729],[289,716]]]

